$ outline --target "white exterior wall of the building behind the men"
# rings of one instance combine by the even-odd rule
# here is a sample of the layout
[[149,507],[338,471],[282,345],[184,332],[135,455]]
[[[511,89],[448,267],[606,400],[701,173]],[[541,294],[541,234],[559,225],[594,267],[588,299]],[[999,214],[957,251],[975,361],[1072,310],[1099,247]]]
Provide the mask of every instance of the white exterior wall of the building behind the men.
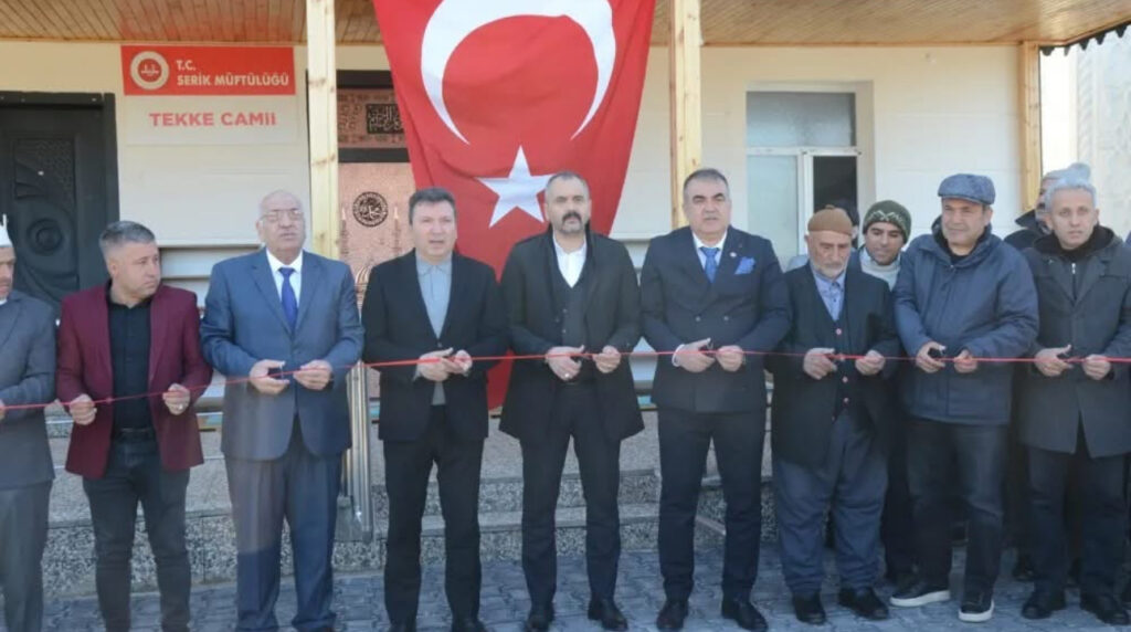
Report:
[[[342,46],[342,69],[387,69],[380,46]],[[253,208],[267,190],[286,188],[309,199],[304,130],[283,146],[154,147],[122,142],[119,46],[0,42],[0,89],[110,92],[118,95],[121,217],[150,225],[169,245],[254,241]],[[970,171],[998,187],[998,232],[1020,207],[1017,54],[984,47],[708,47],[702,52],[703,161],[728,174],[734,222],[748,220],[745,93],[775,84],[853,84],[858,98],[861,206],[891,198],[914,214],[915,232],[938,215],[939,181]],[[295,49],[299,120],[305,120],[305,50]],[[670,228],[667,51],[648,58],[644,99],[614,236],[647,239]],[[874,167],[874,171],[873,171]]]

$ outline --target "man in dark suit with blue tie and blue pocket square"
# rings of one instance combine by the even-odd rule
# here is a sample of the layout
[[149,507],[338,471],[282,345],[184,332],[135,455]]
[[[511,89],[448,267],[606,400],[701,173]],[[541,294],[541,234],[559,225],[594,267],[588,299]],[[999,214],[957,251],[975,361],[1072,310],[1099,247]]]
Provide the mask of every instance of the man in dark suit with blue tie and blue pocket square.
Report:
[[731,226],[731,191],[718,171],[683,182],[689,227],[656,237],[640,275],[644,335],[657,352],[659,565],[667,600],[656,626],[679,630],[688,614],[696,508],[707,450],[726,497],[723,616],[748,630],[766,620],[750,603],[761,535],[766,436],[762,356],[789,329],[782,268],[767,240]]

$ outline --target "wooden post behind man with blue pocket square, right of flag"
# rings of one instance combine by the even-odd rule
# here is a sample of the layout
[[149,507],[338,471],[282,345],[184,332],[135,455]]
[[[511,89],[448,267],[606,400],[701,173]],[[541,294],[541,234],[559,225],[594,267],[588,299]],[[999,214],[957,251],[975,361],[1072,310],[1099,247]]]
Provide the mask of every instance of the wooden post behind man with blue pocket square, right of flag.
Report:
[[681,202],[683,179],[702,164],[702,25],[700,0],[671,0],[668,41],[672,106],[672,227],[687,224]]

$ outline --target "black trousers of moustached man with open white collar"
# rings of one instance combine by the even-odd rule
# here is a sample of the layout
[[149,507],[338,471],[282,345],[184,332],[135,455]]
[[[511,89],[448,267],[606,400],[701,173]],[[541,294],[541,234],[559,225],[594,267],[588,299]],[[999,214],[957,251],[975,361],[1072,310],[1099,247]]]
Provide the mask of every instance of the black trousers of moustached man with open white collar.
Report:
[[616,495],[621,444],[610,441],[592,383],[559,384],[550,430],[523,445],[523,572],[533,604],[550,604],[558,588],[554,511],[570,439],[585,494],[585,560],[590,592],[612,599],[621,556]]

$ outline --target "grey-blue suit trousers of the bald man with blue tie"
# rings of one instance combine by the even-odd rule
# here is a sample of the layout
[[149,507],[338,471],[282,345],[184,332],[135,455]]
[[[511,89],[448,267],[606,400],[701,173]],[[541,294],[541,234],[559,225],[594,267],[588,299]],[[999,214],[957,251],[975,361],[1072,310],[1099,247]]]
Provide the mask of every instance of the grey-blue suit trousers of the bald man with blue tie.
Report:
[[225,458],[235,522],[236,630],[277,630],[283,521],[291,533],[296,607],[291,625],[322,630],[335,621],[334,529],[337,523],[342,454],[307,449],[294,419],[291,443],[270,460]]

